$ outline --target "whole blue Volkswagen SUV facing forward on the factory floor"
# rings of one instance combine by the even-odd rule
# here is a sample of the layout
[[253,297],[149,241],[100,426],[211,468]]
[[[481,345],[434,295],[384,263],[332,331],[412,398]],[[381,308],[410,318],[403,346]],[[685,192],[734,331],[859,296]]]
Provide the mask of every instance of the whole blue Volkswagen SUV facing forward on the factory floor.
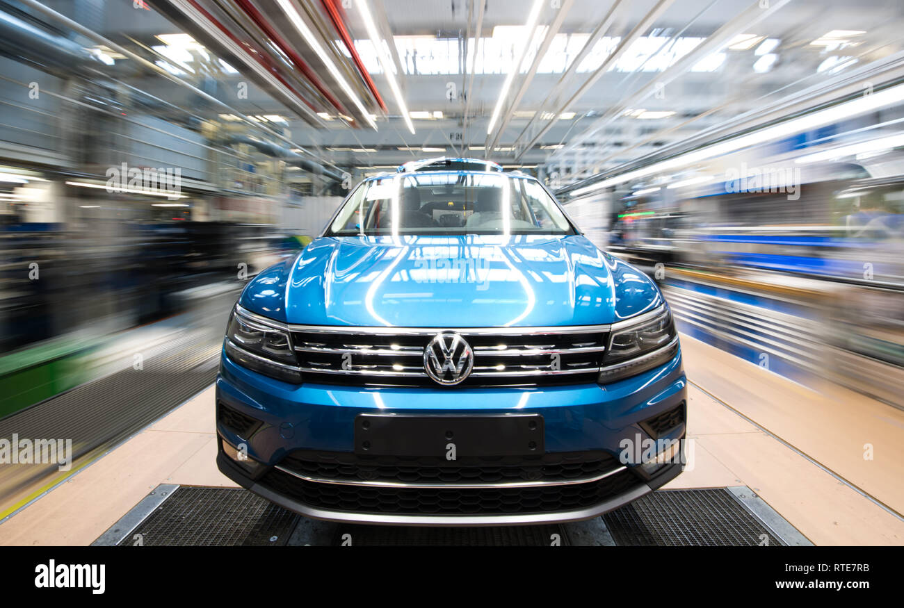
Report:
[[536,179],[438,159],[364,180],[246,286],[217,464],[319,519],[588,519],[682,471],[686,391],[653,281]]

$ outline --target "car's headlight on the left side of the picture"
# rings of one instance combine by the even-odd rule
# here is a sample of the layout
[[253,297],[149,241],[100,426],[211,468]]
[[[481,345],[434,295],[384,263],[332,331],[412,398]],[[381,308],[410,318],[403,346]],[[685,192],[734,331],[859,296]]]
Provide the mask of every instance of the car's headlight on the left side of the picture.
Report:
[[288,332],[242,313],[236,306],[226,327],[224,347],[229,358],[242,367],[284,382],[301,382]]

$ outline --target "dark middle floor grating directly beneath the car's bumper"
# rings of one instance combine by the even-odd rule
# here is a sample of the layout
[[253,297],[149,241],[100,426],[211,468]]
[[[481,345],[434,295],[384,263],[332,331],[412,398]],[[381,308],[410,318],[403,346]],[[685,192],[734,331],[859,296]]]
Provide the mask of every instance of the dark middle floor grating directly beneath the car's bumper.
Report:
[[430,528],[401,526],[336,527],[334,545],[352,547],[550,547],[569,545],[564,526],[486,526]]

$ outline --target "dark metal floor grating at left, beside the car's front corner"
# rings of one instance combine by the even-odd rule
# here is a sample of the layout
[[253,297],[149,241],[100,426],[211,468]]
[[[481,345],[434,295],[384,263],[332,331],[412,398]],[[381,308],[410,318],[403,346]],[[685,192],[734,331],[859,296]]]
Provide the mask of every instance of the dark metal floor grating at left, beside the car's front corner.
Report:
[[279,546],[299,516],[250,491],[181,486],[118,544],[146,547]]

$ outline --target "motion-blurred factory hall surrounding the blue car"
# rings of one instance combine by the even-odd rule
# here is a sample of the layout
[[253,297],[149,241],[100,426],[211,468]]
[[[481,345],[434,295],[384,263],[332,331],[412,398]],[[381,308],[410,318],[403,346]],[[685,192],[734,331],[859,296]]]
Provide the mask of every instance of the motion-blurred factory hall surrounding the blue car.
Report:
[[904,407],[897,0],[0,0],[0,53],[0,435],[102,454],[351,187],[443,155],[538,176],[683,332]]

